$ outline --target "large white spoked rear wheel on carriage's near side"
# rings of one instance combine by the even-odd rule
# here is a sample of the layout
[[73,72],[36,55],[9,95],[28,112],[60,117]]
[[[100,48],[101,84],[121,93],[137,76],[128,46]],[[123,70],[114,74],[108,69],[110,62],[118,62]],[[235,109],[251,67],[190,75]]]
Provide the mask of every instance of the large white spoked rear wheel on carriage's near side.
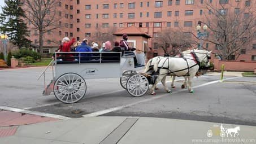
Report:
[[54,83],[54,95],[63,103],[76,103],[86,93],[86,82],[76,73],[65,73]]

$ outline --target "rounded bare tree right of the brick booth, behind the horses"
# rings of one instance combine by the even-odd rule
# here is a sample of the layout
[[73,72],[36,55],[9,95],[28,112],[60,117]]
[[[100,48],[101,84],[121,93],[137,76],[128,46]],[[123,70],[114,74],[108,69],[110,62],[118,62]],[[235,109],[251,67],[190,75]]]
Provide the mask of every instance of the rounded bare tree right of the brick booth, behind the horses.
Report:
[[180,29],[171,28],[163,29],[162,32],[157,33],[153,41],[158,43],[158,47],[161,47],[164,53],[170,55],[179,54],[179,49],[185,50],[193,43],[190,32],[182,32]]

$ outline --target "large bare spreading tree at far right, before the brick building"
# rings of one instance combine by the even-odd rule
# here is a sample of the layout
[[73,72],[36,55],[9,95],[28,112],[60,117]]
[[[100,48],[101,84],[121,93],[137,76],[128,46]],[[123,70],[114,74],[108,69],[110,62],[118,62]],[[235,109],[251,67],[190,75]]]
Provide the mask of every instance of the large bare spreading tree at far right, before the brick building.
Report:
[[256,9],[253,4],[248,6],[242,2],[232,2],[206,1],[203,4],[207,10],[204,23],[210,30],[209,38],[203,41],[214,43],[224,60],[232,59],[232,55],[238,58],[240,51],[248,48],[256,29]]

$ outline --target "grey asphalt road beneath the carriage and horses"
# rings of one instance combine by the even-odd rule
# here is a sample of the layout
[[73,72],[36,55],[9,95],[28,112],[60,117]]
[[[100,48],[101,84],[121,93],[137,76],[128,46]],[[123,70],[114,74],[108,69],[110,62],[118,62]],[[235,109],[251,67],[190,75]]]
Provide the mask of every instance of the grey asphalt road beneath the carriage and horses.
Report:
[[[93,113],[96,116],[166,117],[256,125],[255,77],[225,77],[234,79],[218,82],[219,76],[205,75],[194,79],[195,93],[181,90],[182,81],[177,81],[177,89],[172,89],[172,94],[165,93],[160,86],[157,95],[147,93],[140,98],[133,98],[123,90],[118,78],[86,80],[88,96],[79,103],[62,104],[54,95],[41,95],[42,80],[36,81],[40,71],[42,68],[0,71],[0,81],[3,81],[0,84],[0,105],[69,117]],[[81,113],[72,114],[73,110]]]

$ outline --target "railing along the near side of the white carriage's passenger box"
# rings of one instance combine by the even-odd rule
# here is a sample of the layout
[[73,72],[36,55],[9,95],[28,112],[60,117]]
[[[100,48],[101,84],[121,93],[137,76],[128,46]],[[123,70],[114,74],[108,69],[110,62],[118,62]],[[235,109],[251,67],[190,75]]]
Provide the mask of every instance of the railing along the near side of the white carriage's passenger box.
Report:
[[121,57],[121,52],[57,52],[55,63],[120,63]]

